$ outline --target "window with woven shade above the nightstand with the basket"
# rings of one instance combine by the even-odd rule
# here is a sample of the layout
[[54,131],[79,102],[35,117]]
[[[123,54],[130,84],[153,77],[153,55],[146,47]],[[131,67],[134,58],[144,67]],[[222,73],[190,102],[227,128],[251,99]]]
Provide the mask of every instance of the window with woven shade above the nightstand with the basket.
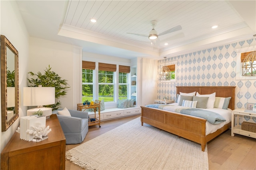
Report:
[[242,76],[256,75],[256,51],[241,53]]

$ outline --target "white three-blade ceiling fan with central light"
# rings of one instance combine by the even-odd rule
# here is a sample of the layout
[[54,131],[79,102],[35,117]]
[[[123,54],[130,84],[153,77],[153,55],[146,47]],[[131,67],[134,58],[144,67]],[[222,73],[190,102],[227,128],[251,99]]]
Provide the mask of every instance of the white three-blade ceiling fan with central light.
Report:
[[156,21],[153,20],[153,21],[150,21],[151,25],[152,25],[152,30],[149,32],[149,35],[145,35],[145,34],[137,34],[137,33],[128,33],[128,34],[133,34],[133,35],[139,35],[139,36],[142,36],[142,37],[148,37],[148,39],[150,40],[154,40],[154,39],[157,39],[158,36],[160,35],[165,35],[165,34],[168,34],[168,33],[172,33],[172,32],[175,32],[175,31],[179,31],[182,29],[182,27],[180,25],[177,25],[176,27],[172,27],[160,34],[157,33],[157,31],[155,30],[155,26],[156,26]]

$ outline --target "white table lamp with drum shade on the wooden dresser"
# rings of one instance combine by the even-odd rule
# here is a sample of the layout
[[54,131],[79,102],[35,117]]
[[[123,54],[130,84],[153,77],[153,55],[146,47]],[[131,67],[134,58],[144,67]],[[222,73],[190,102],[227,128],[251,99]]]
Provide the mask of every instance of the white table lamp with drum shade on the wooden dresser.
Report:
[[41,110],[46,119],[52,115],[52,108],[43,107],[43,105],[55,104],[55,88],[54,87],[24,87],[23,88],[23,105],[37,106],[27,110],[27,115],[32,115],[34,112]]

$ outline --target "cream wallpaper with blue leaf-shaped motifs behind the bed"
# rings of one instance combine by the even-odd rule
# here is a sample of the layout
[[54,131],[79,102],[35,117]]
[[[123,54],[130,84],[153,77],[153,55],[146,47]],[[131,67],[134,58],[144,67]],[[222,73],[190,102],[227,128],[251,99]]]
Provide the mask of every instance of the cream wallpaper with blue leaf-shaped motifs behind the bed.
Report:
[[[236,80],[235,49],[255,45],[256,39],[234,42],[178,56],[167,55],[166,63],[177,61],[176,82],[158,82],[158,99],[162,94],[176,99],[176,86],[236,86],[236,108],[256,102],[256,80]],[[158,72],[160,64],[158,61]],[[240,91],[244,95],[240,96]]]

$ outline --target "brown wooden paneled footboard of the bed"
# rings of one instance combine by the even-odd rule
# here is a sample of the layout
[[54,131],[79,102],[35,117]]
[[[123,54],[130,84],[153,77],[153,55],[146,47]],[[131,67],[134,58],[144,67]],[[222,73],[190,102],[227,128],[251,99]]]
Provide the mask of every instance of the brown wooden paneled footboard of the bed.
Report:
[[178,135],[190,141],[201,144],[202,151],[205,149],[206,120],[187,115],[180,115],[164,110],[141,106],[141,125],[147,123],[164,131]]

